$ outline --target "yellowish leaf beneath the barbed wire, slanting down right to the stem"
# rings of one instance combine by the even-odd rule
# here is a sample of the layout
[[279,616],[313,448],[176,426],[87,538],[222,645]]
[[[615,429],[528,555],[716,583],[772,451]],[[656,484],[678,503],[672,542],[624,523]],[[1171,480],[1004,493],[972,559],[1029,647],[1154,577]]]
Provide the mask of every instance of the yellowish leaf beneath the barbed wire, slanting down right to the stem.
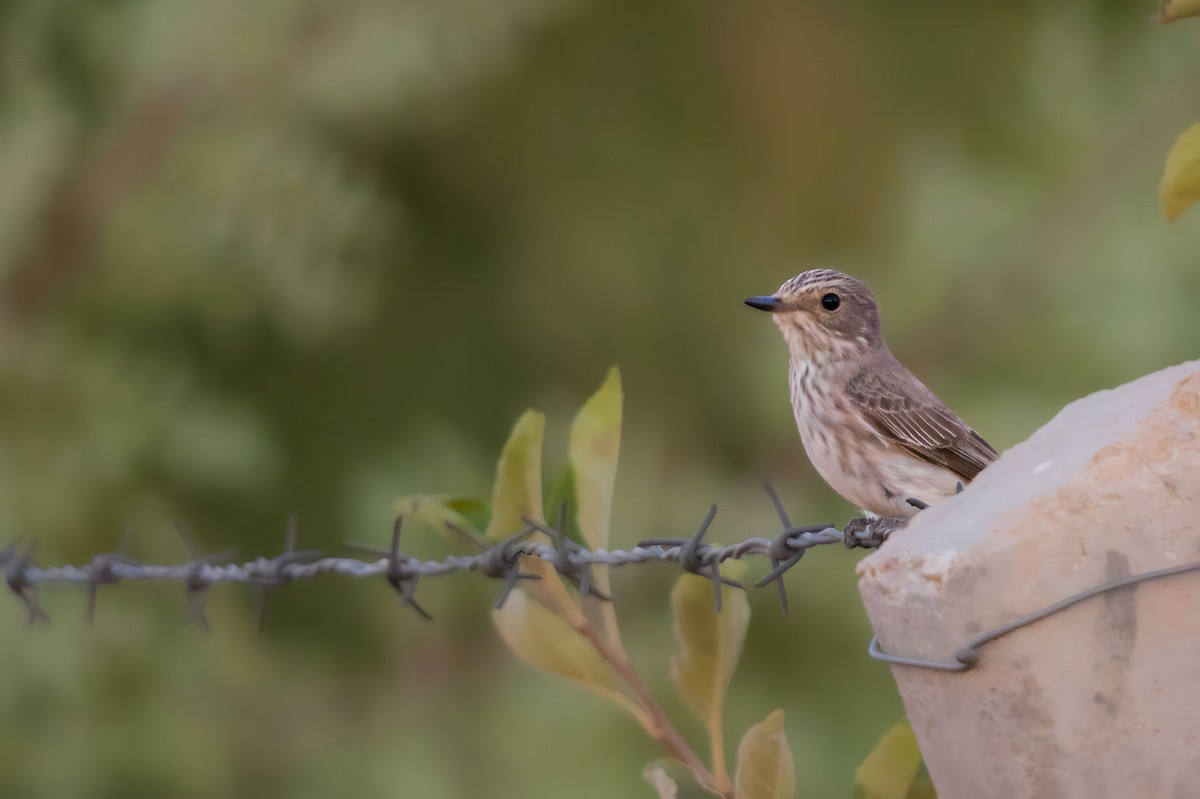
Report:
[[492,611],[492,620],[504,643],[521,660],[616,702],[638,723],[650,726],[646,713],[618,689],[612,666],[570,624],[533,601],[524,590],[512,591],[504,607]]

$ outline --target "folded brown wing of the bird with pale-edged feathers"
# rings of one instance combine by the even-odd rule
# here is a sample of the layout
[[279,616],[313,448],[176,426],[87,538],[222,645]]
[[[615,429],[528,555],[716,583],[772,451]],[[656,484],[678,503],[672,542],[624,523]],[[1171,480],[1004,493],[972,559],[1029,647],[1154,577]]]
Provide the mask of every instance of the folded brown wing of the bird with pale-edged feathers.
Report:
[[[899,368],[901,367],[896,364]],[[917,378],[863,372],[846,392],[870,425],[917,457],[971,481],[998,455]]]

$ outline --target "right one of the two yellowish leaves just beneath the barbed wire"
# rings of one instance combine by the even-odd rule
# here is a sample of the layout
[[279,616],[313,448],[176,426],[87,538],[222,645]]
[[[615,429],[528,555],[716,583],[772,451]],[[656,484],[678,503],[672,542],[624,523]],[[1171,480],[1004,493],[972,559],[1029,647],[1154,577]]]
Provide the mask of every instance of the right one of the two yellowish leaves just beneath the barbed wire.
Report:
[[[740,564],[726,564],[738,573]],[[671,659],[671,678],[684,702],[708,727],[713,751],[713,773],[728,781],[725,765],[725,738],[721,707],[733,677],[750,624],[745,591],[721,587],[721,612],[713,603],[713,582],[697,575],[683,575],[671,590],[674,635],[679,653]]]

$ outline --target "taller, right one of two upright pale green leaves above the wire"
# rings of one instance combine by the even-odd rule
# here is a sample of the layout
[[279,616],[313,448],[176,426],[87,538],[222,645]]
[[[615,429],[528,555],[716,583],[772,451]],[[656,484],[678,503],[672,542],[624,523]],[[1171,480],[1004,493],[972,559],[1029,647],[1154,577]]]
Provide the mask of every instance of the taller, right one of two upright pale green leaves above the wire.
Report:
[[614,366],[571,423],[569,459],[575,470],[578,524],[583,540],[593,549],[608,547],[612,491],[620,455],[622,402],[620,372]]

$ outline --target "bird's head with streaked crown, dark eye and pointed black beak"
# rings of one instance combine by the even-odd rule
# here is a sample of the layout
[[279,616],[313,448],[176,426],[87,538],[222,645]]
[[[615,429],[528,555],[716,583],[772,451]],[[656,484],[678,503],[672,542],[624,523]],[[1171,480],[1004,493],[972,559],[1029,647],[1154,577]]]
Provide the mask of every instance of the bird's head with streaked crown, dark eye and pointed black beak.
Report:
[[769,296],[745,301],[769,311],[793,355],[815,358],[847,347],[882,344],[880,310],[863,281],[832,269],[810,269]]

